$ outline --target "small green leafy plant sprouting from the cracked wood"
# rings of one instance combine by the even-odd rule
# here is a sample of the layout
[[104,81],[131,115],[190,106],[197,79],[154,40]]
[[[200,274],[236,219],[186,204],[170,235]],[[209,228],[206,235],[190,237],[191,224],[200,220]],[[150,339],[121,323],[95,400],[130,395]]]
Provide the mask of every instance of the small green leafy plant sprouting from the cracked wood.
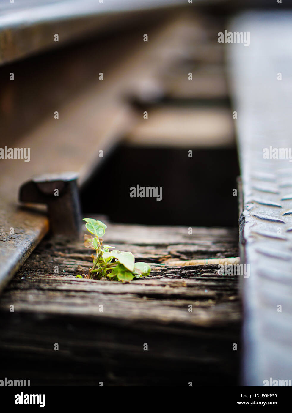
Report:
[[96,250],[96,256],[93,258],[93,266],[89,269],[88,274],[76,275],[77,278],[91,278],[101,280],[108,278],[116,281],[132,281],[133,278],[140,278],[150,273],[150,266],[146,262],[136,262],[132,252],[117,251],[109,249],[115,248],[111,245],[103,245],[103,235],[105,235],[106,225],[101,221],[93,218],[84,218],[86,228],[89,234],[84,235],[84,246]]

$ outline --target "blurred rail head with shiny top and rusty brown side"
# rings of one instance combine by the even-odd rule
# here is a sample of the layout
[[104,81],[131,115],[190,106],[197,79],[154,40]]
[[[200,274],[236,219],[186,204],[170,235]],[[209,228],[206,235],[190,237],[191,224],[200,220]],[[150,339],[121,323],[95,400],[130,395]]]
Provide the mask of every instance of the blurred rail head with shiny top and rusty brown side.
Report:
[[[1,0],[0,64],[64,45],[72,39],[79,40],[92,32],[132,24],[132,13],[140,10],[185,4],[185,0],[48,0],[38,3]],[[59,36],[58,42],[54,40],[55,34]]]

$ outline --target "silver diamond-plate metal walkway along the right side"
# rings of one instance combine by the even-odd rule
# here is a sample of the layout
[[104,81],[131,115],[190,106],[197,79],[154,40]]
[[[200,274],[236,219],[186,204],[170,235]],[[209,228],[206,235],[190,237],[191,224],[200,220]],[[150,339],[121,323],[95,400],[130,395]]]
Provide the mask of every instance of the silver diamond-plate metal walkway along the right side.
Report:
[[245,385],[292,378],[292,162],[276,151],[263,157],[270,147],[292,147],[291,18],[244,14],[230,31],[249,32],[249,47],[227,45],[244,198],[241,258],[250,266],[242,280]]

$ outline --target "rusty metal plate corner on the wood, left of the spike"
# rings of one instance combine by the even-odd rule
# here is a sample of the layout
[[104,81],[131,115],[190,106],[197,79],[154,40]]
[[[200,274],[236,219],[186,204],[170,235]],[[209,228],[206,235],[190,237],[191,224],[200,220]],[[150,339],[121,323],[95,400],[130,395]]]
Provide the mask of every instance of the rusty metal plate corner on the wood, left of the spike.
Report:
[[0,291],[47,233],[48,218],[0,202]]

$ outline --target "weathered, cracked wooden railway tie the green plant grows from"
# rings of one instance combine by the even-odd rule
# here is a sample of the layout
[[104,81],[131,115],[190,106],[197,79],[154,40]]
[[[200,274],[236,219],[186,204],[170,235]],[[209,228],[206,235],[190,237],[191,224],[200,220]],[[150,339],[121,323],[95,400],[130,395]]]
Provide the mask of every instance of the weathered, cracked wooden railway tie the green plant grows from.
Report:
[[151,275],[77,279],[90,266],[82,240],[44,240],[0,297],[2,375],[31,385],[236,385],[237,276],[163,261],[236,255],[237,231],[110,224],[105,240],[150,263]]

